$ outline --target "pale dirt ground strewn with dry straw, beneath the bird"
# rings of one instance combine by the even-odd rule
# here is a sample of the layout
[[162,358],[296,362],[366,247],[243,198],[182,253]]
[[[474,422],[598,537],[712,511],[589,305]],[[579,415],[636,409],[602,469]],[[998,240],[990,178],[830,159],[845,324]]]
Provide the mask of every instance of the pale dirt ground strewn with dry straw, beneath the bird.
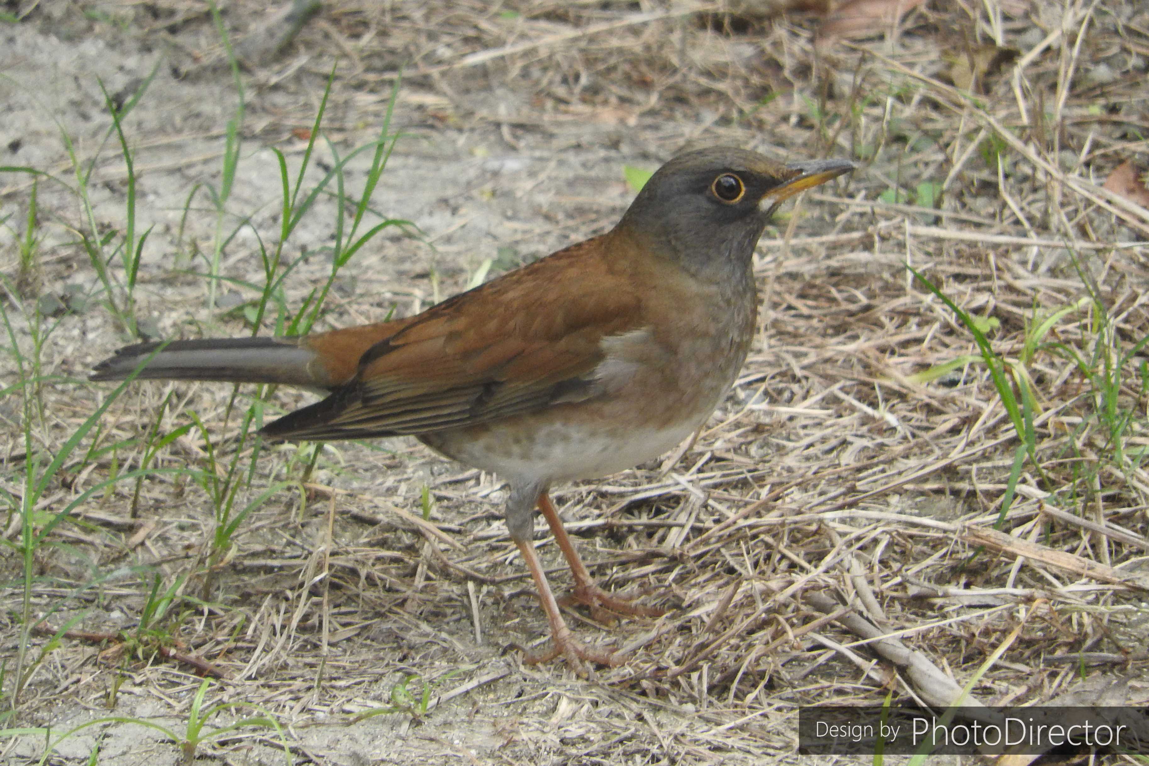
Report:
[[[1074,185],[1092,189],[1119,160],[1144,156],[1143,138],[1124,127],[1149,124],[1147,96],[1133,90],[1149,56],[1144,13],[1102,6],[1082,26],[1084,6],[1074,3],[998,8],[1001,48],[1012,52],[1005,61],[1038,52],[1040,76],[1026,80],[1026,96],[1040,102],[1038,111],[1069,103],[1065,114],[1073,115],[1052,131],[1059,138],[1043,136],[1032,149],[1062,157],[1072,176],[1058,177],[1063,196],[1051,198],[1054,183],[1008,141],[1008,178],[988,162],[971,167],[985,156],[978,147],[989,139],[977,131],[993,133],[989,123],[966,124],[961,110],[921,105],[944,103],[939,78],[956,77],[939,55],[950,25],[966,40],[986,34],[981,10],[961,3],[923,5],[896,34],[816,46],[812,31],[832,16],[753,6],[685,13],[647,2],[327,2],[282,49],[268,41],[282,29],[279,11],[229,3],[222,20],[245,57],[242,144],[223,224],[234,231],[222,261],[230,281],[219,288],[219,308],[209,310],[201,274],[217,235],[210,189],[222,180],[239,102],[210,14],[180,3],[6,7],[18,14],[29,6],[26,17],[0,26],[0,164],[62,183],[36,185],[41,257],[22,296],[9,283],[15,328],[6,346],[26,354],[32,309],[53,314],[40,363],[51,416],[34,430],[47,450],[108,394],[109,386],[84,380],[87,370],[132,340],[101,305],[100,281],[77,245],[77,232],[92,223],[101,232],[125,225],[128,173],[101,84],[122,103],[154,71],[123,130],[134,149],[137,226],[149,231],[136,314],[145,334],[162,338],[249,333],[240,309],[263,280],[254,253],[279,231],[282,181],[270,147],[298,169],[337,61],[324,140],[304,186],[376,140],[403,67],[392,123],[403,136],[371,207],[409,225],[385,230],[344,268],[321,327],[414,314],[484,270],[494,274],[606,231],[633,198],[624,165],[653,170],[683,147],[730,144],[779,160],[863,161],[853,179],[808,194],[768,231],[755,262],[762,332],[699,440],[664,461],[555,494],[600,581],[668,610],[618,620],[570,612],[579,635],[627,651],[625,665],[581,679],[562,663],[523,661],[520,647],[545,647],[546,620],[507,537],[496,477],[394,440],[324,447],[304,488],[307,448],[268,446],[240,504],[276,481],[293,483],[245,519],[226,560],[210,572],[211,504],[176,475],[147,480],[134,516],[132,482],[98,493],[37,551],[26,593],[38,625],[47,626],[31,637],[43,661],[6,725],[51,727],[59,736],[106,719],[63,740],[46,763],[162,766],[187,763],[186,755],[198,764],[283,764],[285,749],[291,763],[348,766],[793,761],[800,704],[881,704],[890,690],[932,702],[912,663],[845,645],[861,637],[835,621],[847,605],[958,688],[995,649],[1012,647],[974,684],[987,703],[1048,702],[1077,681],[1124,684],[1123,701],[1143,697],[1136,567],[1149,549],[1149,478],[1142,481],[1139,462],[1088,475],[1048,467],[1072,462],[1058,440],[1094,420],[1074,409],[1088,399],[1087,376],[1063,374],[1039,356],[1030,370],[1044,403],[1038,428],[1048,441],[1039,451],[1048,463],[1027,464],[1011,479],[1018,442],[985,367],[971,361],[977,346],[940,301],[911,284],[904,264],[927,271],[971,314],[1000,322],[993,340],[1010,358],[1020,356],[1034,312],[1080,301],[1090,278],[1115,317],[1113,336],[1129,345],[1144,336],[1149,224]],[[1077,26],[1043,44],[1063,29],[1051,21],[1058,9]],[[1069,40],[1081,30],[1090,70],[1105,65],[1111,77],[1065,73]],[[987,114],[1013,119],[1009,67],[998,62],[979,75],[997,78],[985,86]],[[1073,87],[1057,106],[1066,77]],[[1074,122],[1082,115],[1095,119]],[[91,167],[94,222],[75,194],[63,136],[79,172]],[[362,187],[369,158],[347,163],[349,191]],[[926,204],[930,185],[943,181],[953,181],[944,202]],[[893,186],[916,196],[884,196]],[[0,271],[11,279],[31,189],[26,173],[0,175]],[[1073,226],[1046,215],[1051,199]],[[324,248],[338,212],[332,196],[321,196],[292,234],[285,257],[307,257],[284,285],[285,305],[296,308],[326,278]],[[1088,323],[1072,315],[1064,325],[1059,340],[1072,345]],[[962,358],[943,376],[911,379]],[[1125,361],[1135,367],[1139,359]],[[17,372],[0,365],[5,377]],[[1123,407],[1143,416],[1143,388],[1126,387]],[[109,408],[90,441],[146,433],[169,395],[162,432],[195,412],[234,435],[229,386],[141,384]],[[313,400],[276,392],[269,412]],[[21,408],[6,390],[0,418],[11,432],[0,457],[9,496],[20,495],[25,464]],[[1144,441],[1141,416],[1131,420],[1131,444]],[[196,433],[167,446],[156,465],[206,465],[209,448]],[[1110,443],[1090,439],[1080,443],[1098,452]],[[228,439],[214,448],[234,451]],[[70,464],[38,510],[59,510],[115,466],[138,464],[138,449]],[[1104,577],[967,534],[997,520],[1003,495],[1016,498],[1005,502],[1004,531],[1021,529],[1003,536],[1024,533],[1073,562],[1105,567]],[[1075,500],[1057,502],[1069,496]],[[1039,524],[1043,505],[1095,509],[1096,524],[1134,540]],[[18,514],[7,521],[6,540],[18,540]],[[538,539],[562,590],[562,558],[541,526]],[[979,546],[986,558],[966,566]],[[2,556],[0,656],[8,658],[10,699],[25,588],[18,554]],[[180,597],[163,625],[172,637],[168,657],[91,639],[131,633],[153,582]],[[833,619],[819,611],[818,593],[836,599],[827,608]],[[49,644],[65,625],[74,633]],[[1087,661],[1082,652],[1094,653]],[[252,722],[182,751],[159,727],[186,735],[206,668],[216,678],[205,707],[224,705],[208,728],[256,715],[276,726]],[[360,717],[387,706],[393,712]],[[43,732],[13,733],[0,741],[0,763],[40,763],[44,744]]]

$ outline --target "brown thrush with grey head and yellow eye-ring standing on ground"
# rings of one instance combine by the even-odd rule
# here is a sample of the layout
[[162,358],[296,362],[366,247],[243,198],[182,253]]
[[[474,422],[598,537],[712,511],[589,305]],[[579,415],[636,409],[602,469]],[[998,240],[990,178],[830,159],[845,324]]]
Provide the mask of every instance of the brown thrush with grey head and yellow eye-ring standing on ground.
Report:
[[663,612],[597,586],[550,487],[601,479],[671,450],[722,402],[757,326],[751,261],[786,199],[855,168],[779,163],[738,147],[684,152],[618,224],[421,314],[296,336],[152,341],[121,348],[92,380],[284,384],[325,399],[263,426],[275,440],[414,435],[508,485],[504,519],[546,613],[550,649],[580,675],[619,652],[566,625],[533,546],[542,513],[573,601]]

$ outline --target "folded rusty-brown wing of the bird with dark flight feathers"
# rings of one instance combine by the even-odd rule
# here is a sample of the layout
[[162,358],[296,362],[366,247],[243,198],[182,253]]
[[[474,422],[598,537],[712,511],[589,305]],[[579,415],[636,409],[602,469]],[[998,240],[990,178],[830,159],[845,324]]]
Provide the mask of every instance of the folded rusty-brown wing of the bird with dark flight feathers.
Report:
[[[640,295],[606,262],[601,239],[394,323],[393,334],[362,354],[354,378],[264,432],[423,434],[596,395],[604,339],[642,328]],[[562,300],[549,300],[557,292]]]

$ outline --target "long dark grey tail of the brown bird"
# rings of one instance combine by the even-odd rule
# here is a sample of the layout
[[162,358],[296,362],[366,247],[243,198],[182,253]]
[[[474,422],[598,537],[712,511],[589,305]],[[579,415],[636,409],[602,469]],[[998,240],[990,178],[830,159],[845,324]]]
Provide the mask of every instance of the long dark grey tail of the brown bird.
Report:
[[[161,348],[162,347],[162,348]],[[159,349],[159,350],[157,350]],[[151,358],[149,358],[151,357]],[[123,380],[137,367],[140,379],[218,380],[325,386],[313,364],[317,355],[299,338],[221,338],[125,346],[100,362],[90,380]]]

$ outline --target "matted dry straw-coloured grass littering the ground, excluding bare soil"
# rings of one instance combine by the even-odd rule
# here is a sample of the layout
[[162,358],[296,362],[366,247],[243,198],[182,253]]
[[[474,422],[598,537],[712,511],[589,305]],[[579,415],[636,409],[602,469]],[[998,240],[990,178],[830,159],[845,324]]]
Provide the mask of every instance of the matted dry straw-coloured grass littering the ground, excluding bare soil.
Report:
[[[1049,702],[1082,681],[1097,694],[1119,682],[1141,701],[1149,212],[1101,183],[1123,160],[1144,164],[1149,14],[1135,3],[1017,5],[997,23],[987,16],[995,1],[932,3],[896,33],[834,46],[815,46],[812,20],[717,6],[326,8],[250,77],[273,91],[288,76],[325,76],[340,55],[349,64],[332,111],[347,117],[337,129],[350,131],[403,64],[410,124],[496,136],[525,154],[597,156],[609,145],[620,161],[651,164],[643,157],[705,140],[865,163],[838,194],[808,195],[763,242],[761,342],[697,441],[661,466],[556,495],[600,581],[670,611],[614,625],[572,613],[580,634],[632,653],[592,681],[558,664],[522,665],[507,648],[537,641],[545,621],[500,518],[500,483],[403,442],[327,447],[306,480],[309,454],[270,450],[248,498],[284,477],[296,489],[254,511],[210,572],[214,521],[193,482],[148,480],[139,518],[128,513],[131,482],[117,485],[39,551],[36,610],[56,610],[53,627],[83,613],[83,627],[115,632],[132,625],[160,573],[203,599],[169,616],[169,653],[225,675],[218,702],[259,704],[294,727],[296,763],[348,752],[383,763],[784,760],[797,705],[880,704],[889,690],[943,704],[979,670],[972,695],[987,704]],[[154,32],[199,51],[193,76],[213,71],[209,20],[175,5],[157,14]],[[955,88],[955,62],[995,37],[1016,56],[980,71],[976,95]],[[260,140],[314,115],[306,88],[284,93],[291,107],[260,123]],[[574,208],[573,223],[539,215],[519,242],[557,245],[616,212],[585,198]],[[439,257],[465,247],[445,242]],[[907,263],[972,317],[995,320],[982,326],[1015,395],[1023,385],[1033,394],[1028,436],[970,331]],[[462,287],[465,269],[448,266],[448,286]],[[416,271],[388,297],[433,292]],[[308,287],[292,284],[288,302]],[[171,305],[195,311],[201,289],[185,285]],[[354,303],[337,305],[337,324],[390,305],[364,317]],[[109,350],[85,349],[82,362]],[[62,364],[46,353],[46,369]],[[219,388],[176,390],[223,432],[236,416]],[[101,392],[45,385],[44,448],[75,431]],[[101,443],[146,432],[164,393],[133,390],[109,412]],[[14,426],[18,410],[5,415]],[[167,430],[182,423],[173,410]],[[3,487],[18,497],[23,440],[0,436],[0,449],[13,471]],[[70,465],[43,509],[140,459]],[[205,464],[195,432],[157,458],[188,462]],[[14,514],[7,539],[20,531]],[[561,557],[547,535],[539,541],[561,583]],[[3,560],[5,579],[18,582],[15,558]],[[8,653],[18,589],[3,598]],[[121,698],[167,701],[136,714],[186,714],[194,668],[100,653],[83,637],[48,653],[20,720],[51,722],[47,701],[99,704],[113,679]],[[427,711],[403,703],[385,732],[380,719],[331,726],[392,704],[414,675],[433,683]],[[417,697],[418,682],[408,686]],[[435,697],[449,689],[458,694]],[[437,715],[440,706],[450,712]]]

